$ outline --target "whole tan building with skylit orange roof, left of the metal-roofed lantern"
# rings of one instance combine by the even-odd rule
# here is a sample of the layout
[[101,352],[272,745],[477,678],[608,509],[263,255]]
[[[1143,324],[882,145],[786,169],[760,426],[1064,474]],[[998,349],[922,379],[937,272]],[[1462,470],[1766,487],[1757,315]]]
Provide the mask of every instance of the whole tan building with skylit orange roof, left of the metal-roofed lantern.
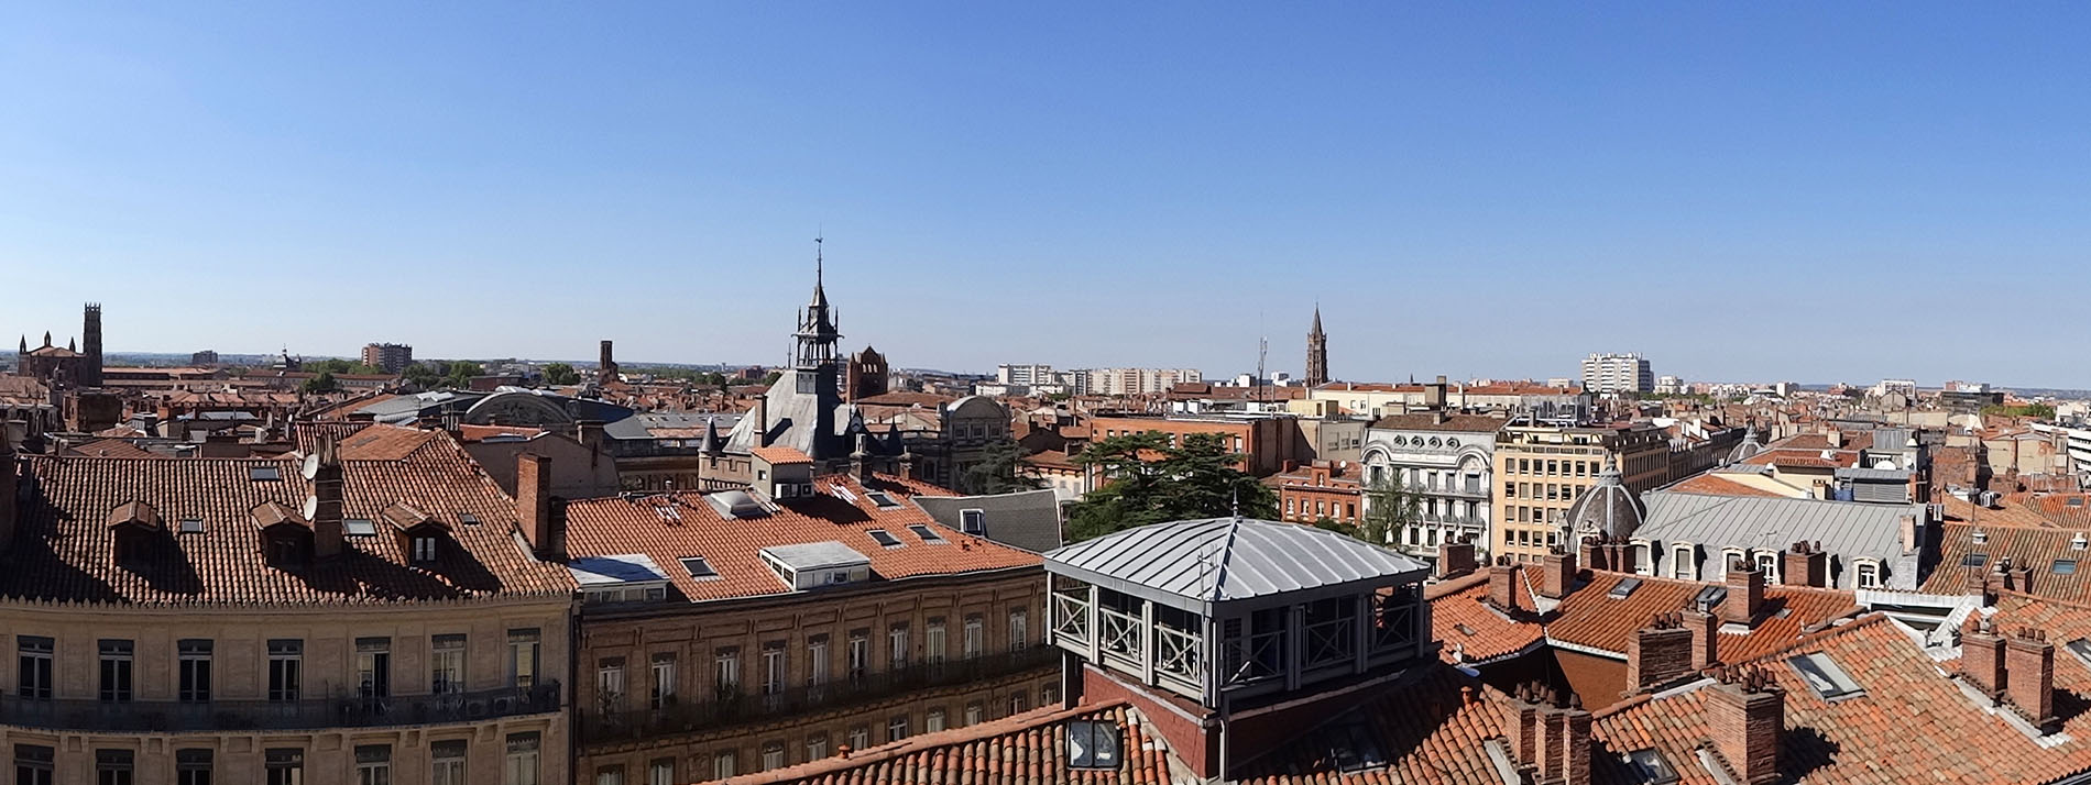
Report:
[[569,505],[577,777],[723,779],[1058,701],[1037,555],[795,453],[744,491]]

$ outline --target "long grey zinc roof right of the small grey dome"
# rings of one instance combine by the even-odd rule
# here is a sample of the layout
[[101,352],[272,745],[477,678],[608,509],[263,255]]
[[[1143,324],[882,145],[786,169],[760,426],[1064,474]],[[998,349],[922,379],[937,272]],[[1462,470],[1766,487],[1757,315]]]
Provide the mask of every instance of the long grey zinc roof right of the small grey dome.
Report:
[[[1913,505],[1859,501],[1713,497],[1700,493],[1650,491],[1641,497],[1648,518],[1635,539],[1694,543],[1708,553],[1723,547],[1784,551],[1798,541],[1819,541],[1823,551],[1894,562],[1903,555],[1901,518]],[[1710,572],[1725,566],[1704,560]]]

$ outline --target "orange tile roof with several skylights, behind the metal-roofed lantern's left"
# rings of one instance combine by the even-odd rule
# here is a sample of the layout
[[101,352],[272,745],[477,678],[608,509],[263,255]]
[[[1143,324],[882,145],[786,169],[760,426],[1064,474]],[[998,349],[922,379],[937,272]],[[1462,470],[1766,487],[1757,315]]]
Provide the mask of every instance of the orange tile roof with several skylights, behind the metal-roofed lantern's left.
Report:
[[[1041,560],[987,539],[939,526],[907,497],[933,489],[897,478],[878,478],[899,507],[878,507],[853,476],[813,478],[815,497],[769,503],[769,514],[736,520],[721,514],[705,493],[627,495],[575,499],[567,505],[567,551],[581,555],[646,553],[692,601],[780,595],[788,589],[757,555],[772,545],[836,541],[872,560],[872,574],[884,580],[964,574],[981,570],[1039,568]],[[933,545],[907,530],[930,526],[943,537]],[[901,547],[882,547],[872,530],[887,530]],[[696,580],[680,560],[703,555],[719,580]]]

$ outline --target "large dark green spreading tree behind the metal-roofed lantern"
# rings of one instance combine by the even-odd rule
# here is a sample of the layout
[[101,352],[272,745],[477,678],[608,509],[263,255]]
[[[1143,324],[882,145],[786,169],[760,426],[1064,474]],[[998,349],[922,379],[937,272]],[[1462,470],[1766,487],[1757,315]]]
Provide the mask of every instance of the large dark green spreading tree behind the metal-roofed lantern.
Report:
[[1171,445],[1158,432],[1089,443],[1075,457],[1106,482],[1075,503],[1069,534],[1085,541],[1117,530],[1190,518],[1278,518],[1278,493],[1234,468],[1219,434],[1188,434]]

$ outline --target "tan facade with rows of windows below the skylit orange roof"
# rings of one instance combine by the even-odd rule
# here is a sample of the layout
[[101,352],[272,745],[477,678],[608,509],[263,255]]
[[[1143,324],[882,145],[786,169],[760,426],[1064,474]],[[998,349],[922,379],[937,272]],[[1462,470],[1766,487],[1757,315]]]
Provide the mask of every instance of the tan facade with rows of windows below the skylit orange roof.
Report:
[[707,781],[1058,701],[1043,591],[1046,572],[1029,566],[669,610],[585,605],[575,775]]

